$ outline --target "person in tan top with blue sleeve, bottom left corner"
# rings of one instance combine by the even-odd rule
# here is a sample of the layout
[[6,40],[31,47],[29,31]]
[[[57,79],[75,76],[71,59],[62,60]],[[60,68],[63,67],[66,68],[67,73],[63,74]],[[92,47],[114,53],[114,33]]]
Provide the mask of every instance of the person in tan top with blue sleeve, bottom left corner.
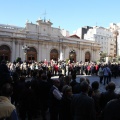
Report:
[[10,96],[12,95],[12,86],[9,83],[5,83],[1,88],[0,96],[0,119],[18,120],[16,108],[10,102]]

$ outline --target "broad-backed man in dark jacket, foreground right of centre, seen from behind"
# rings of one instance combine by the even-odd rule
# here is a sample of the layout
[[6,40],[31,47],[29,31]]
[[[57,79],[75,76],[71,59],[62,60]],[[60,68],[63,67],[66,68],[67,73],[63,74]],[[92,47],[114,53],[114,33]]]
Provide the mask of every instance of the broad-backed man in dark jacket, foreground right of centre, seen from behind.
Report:
[[83,81],[80,84],[81,92],[74,94],[71,101],[73,120],[96,120],[94,100],[88,96],[89,84]]

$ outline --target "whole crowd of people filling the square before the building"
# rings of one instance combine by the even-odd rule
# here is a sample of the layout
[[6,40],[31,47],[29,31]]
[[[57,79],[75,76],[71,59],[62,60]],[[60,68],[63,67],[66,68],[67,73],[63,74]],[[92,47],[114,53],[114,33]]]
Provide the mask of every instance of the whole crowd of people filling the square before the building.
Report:
[[[97,75],[90,81],[77,74]],[[58,79],[51,79],[52,76]],[[111,77],[119,64],[55,62],[1,62],[0,120],[119,120],[120,95]],[[30,81],[27,78],[30,77]],[[106,91],[99,91],[100,84]]]

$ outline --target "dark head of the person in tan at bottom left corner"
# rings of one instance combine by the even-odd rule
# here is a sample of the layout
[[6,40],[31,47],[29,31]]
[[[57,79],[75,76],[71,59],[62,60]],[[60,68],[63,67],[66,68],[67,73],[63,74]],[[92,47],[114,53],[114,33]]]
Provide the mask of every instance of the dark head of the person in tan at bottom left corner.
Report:
[[13,88],[9,83],[6,83],[1,88],[1,95],[5,97],[10,97],[12,95]]

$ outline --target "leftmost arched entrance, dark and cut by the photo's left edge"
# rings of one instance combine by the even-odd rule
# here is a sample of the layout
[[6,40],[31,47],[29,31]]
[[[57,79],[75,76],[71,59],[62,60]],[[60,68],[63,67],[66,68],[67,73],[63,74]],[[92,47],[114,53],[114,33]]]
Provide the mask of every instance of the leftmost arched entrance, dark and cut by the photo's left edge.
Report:
[[11,51],[7,45],[0,46],[0,62],[2,60],[10,61]]

